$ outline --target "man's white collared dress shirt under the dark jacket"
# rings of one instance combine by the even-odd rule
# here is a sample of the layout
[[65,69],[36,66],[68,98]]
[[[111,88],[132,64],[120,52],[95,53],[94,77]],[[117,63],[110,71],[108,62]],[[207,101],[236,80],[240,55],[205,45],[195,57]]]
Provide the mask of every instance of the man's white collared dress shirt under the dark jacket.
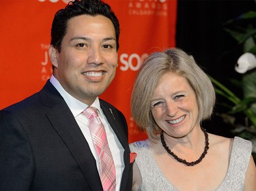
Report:
[[[81,131],[85,136],[85,139],[87,140],[87,143],[89,144],[91,153],[94,155],[94,158],[96,159],[98,172],[100,172],[100,162],[89,131],[89,120],[83,114],[81,114],[82,111],[88,107],[88,105],[82,103],[78,99],[75,99],[68,92],[66,92],[66,90],[64,90],[64,88],[61,86],[59,81],[54,77],[54,75],[51,76],[50,82],[57,89],[59,94],[61,94],[63,99],[66,101],[68,107],[70,108],[77,124],[81,128]],[[120,189],[122,174],[124,171],[124,147],[122,147],[109,122],[106,120],[106,116],[104,116],[103,111],[100,108],[100,101],[98,97],[90,106],[96,107],[98,109],[98,116],[106,130],[106,137],[108,139],[109,148],[111,150],[113,160],[115,163],[116,191],[118,191]]]

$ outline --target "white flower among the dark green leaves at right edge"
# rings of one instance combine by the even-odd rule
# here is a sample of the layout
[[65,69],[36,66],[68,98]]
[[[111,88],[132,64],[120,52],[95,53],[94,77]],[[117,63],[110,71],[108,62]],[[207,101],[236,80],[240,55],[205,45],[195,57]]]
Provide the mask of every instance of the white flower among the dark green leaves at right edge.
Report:
[[246,52],[238,58],[238,63],[235,67],[238,73],[246,73],[256,67],[256,57],[250,52]]

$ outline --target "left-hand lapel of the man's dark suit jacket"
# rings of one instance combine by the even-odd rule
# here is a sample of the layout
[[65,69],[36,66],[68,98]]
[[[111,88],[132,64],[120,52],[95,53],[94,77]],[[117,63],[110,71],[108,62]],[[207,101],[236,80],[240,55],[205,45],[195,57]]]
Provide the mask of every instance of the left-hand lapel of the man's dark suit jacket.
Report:
[[96,160],[91,154],[91,150],[81,129],[59,92],[55,90],[51,83],[48,86],[53,88],[51,94],[48,94],[48,92],[41,93],[42,102],[52,107],[46,114],[48,120],[51,121],[53,128],[55,128],[59,137],[61,137],[70,150],[91,190],[102,190]]

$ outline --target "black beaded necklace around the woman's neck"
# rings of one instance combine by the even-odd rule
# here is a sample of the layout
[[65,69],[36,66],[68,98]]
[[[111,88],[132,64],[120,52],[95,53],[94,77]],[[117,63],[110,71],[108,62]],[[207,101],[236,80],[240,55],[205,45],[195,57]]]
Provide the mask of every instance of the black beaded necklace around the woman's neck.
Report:
[[165,142],[165,138],[164,138],[164,132],[162,131],[162,133],[160,133],[160,139],[162,142],[162,146],[165,148],[165,150],[167,150],[167,152],[173,156],[173,158],[175,158],[175,160],[177,160],[178,162],[182,162],[183,164],[186,164],[186,166],[194,166],[195,164],[198,164],[199,162],[201,162],[203,160],[203,158],[205,157],[205,155],[207,154],[207,151],[209,149],[209,139],[208,139],[208,133],[205,131],[204,128],[201,128],[203,131],[203,134],[205,136],[205,147],[204,147],[204,151],[201,154],[200,158],[193,161],[193,162],[187,162],[186,160],[179,158],[177,155],[175,155],[167,146],[166,142]]

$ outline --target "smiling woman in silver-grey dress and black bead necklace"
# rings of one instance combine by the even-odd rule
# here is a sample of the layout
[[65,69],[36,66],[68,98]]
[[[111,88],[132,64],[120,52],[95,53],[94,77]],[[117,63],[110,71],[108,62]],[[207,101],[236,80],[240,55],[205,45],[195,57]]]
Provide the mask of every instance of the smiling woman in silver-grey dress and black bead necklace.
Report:
[[178,48],[143,63],[132,91],[132,118],[149,139],[137,153],[133,190],[256,190],[252,144],[205,131],[215,92],[208,75]]

